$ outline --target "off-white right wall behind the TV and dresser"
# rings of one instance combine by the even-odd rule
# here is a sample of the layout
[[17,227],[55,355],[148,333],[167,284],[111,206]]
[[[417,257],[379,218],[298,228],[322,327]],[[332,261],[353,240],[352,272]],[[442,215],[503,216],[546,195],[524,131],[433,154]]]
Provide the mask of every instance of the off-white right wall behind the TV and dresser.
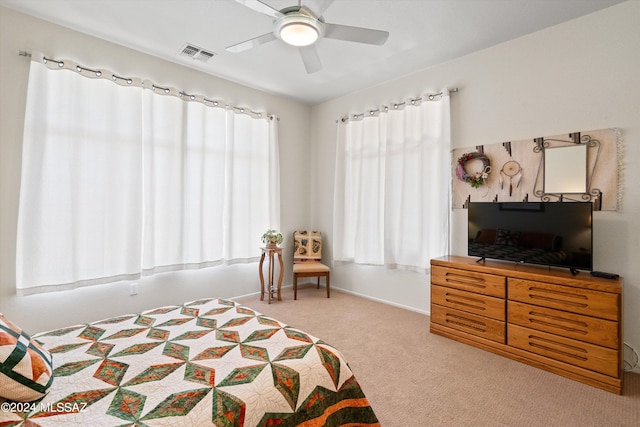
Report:
[[[640,168],[634,161],[640,159],[640,1],[315,106],[312,154],[317,179],[311,212],[312,222],[328,237],[336,120],[443,87],[460,90],[451,95],[454,148],[574,131],[622,130],[628,159],[623,167],[623,208],[595,214],[594,269],[624,276],[625,340],[640,349]],[[451,252],[466,255],[466,211],[452,212]],[[356,265],[335,268],[332,278],[337,288],[423,312],[429,310],[428,282],[417,273]]]

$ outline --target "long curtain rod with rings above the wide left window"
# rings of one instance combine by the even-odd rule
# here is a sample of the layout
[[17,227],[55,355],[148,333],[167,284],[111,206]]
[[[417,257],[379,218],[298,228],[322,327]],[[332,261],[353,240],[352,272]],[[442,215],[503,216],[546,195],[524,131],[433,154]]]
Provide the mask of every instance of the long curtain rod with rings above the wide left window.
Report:
[[[30,52],[27,52],[24,50],[19,50],[18,55],[31,58],[32,61],[42,62],[49,69],[66,69],[70,71],[75,70],[79,74],[83,75],[84,77],[112,80],[114,83],[120,86],[142,87],[144,89],[150,89],[152,92],[157,94],[175,96],[185,101],[199,102],[209,107],[231,109],[237,113],[247,114],[257,119],[268,117],[269,120],[274,120],[274,119],[278,121],[280,120],[280,118],[277,117],[276,115],[256,112],[245,107],[237,107],[234,105],[230,105],[222,100],[209,99],[203,95],[189,94],[183,90],[178,90],[176,88],[168,87],[168,86],[157,85],[149,80],[143,80],[142,78],[138,78],[138,77],[121,77],[116,75],[115,73],[112,73],[111,71],[103,71],[99,69],[87,68],[75,63],[72,60],[51,59],[51,58],[47,58],[41,53],[37,53],[37,57],[33,58]],[[56,64],[57,67],[51,66],[49,63]]]

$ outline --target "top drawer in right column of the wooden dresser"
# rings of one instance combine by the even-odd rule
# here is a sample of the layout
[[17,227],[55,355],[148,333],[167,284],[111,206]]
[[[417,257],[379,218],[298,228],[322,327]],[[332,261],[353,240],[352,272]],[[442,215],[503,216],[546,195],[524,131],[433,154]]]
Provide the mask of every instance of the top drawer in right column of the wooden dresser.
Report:
[[509,278],[508,289],[509,300],[619,320],[618,294],[512,278]]

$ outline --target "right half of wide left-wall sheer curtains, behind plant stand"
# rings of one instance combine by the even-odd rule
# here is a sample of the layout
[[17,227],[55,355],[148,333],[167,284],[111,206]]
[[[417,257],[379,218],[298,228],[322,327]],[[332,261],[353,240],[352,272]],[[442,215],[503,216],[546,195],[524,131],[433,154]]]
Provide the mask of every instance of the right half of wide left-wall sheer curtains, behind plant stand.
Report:
[[144,270],[255,258],[262,233],[279,227],[275,120],[144,99]]

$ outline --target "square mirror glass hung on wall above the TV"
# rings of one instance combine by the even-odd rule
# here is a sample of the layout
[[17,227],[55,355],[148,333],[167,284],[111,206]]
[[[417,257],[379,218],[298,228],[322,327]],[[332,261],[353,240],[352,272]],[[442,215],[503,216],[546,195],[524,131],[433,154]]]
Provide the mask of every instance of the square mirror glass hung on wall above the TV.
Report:
[[545,147],[543,188],[547,194],[586,193],[587,146]]

